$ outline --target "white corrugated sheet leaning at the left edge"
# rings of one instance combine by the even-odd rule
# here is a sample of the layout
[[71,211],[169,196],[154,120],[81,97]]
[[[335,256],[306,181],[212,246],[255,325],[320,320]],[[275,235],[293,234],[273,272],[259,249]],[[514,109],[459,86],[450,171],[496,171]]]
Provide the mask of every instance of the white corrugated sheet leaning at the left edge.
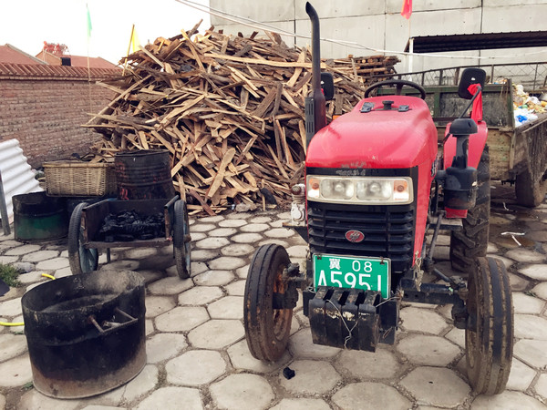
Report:
[[16,139],[0,142],[0,172],[2,172],[7,214],[11,220],[14,215],[12,197],[42,189]]

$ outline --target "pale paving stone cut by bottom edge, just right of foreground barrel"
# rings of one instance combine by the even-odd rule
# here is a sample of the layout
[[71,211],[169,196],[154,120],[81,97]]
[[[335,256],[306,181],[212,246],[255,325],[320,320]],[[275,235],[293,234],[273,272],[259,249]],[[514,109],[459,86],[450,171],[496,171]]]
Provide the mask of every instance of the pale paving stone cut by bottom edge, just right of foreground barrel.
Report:
[[203,409],[200,391],[189,387],[160,387],[139,403],[136,410],[188,408]]

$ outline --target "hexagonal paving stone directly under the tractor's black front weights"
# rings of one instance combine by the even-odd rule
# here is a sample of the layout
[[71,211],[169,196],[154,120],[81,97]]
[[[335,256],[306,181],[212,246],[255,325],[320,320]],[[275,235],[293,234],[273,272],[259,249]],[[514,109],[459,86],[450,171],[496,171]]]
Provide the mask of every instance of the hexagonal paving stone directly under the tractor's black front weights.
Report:
[[366,380],[370,378],[386,379],[401,371],[395,354],[387,349],[378,348],[376,352],[344,350],[334,362],[342,374]]

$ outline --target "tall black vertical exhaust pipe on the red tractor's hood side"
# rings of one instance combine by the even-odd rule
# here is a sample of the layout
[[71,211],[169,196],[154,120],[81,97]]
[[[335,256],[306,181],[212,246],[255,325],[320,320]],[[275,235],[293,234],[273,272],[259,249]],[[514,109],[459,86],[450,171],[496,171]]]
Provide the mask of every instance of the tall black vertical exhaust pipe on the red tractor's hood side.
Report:
[[305,97],[306,148],[315,133],[326,125],[325,96],[321,90],[321,52],[319,45],[319,16],[313,5],[305,4],[305,12],[312,22],[312,95]]

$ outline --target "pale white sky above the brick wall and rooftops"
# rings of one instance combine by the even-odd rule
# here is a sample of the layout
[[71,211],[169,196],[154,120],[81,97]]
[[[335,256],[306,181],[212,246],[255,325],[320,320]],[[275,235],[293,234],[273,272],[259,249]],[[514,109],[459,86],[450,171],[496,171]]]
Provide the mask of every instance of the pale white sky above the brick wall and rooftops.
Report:
[[67,45],[73,56],[101,56],[118,64],[127,55],[133,24],[144,46],[190,30],[201,19],[203,33],[211,26],[209,15],[175,0],[0,0],[0,46],[8,43],[36,56],[47,41]]

